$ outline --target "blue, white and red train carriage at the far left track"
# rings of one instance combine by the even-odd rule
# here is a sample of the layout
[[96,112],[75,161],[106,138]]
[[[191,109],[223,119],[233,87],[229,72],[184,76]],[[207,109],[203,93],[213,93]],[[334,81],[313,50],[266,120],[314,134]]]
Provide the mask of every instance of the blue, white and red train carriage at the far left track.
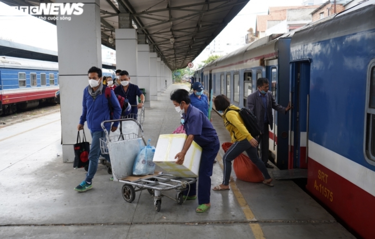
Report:
[[57,62],[0,56],[0,114],[53,101],[57,91]]

